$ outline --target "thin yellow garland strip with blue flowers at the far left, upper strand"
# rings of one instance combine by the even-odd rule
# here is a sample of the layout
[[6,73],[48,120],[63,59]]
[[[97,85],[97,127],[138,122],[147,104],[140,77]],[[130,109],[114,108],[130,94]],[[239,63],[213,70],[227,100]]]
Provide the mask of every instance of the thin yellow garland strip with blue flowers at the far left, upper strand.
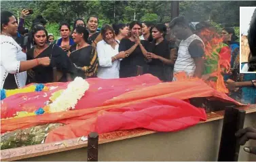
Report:
[[1,89],[1,100],[13,96],[15,94],[24,94],[29,92],[48,92],[49,88],[44,86],[43,84],[34,84],[28,87],[20,88],[20,89]]

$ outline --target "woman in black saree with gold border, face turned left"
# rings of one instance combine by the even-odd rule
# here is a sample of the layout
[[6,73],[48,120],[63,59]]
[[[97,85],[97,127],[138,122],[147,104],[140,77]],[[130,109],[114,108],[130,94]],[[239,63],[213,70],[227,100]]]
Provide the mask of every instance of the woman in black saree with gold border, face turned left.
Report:
[[84,79],[96,77],[98,71],[98,56],[95,48],[88,44],[89,33],[84,26],[76,26],[73,31],[75,44],[71,46],[69,58],[76,68],[75,76]]

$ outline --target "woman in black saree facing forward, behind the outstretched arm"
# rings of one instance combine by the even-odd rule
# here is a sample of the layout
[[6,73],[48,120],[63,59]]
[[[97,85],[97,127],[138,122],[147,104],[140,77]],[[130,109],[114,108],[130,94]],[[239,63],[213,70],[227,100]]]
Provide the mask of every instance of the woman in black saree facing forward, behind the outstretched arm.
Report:
[[31,48],[26,53],[27,60],[34,58],[50,58],[50,66],[37,66],[28,70],[27,83],[52,83],[52,82],[65,82],[71,81],[74,66],[67,56],[58,45],[48,45],[48,33],[45,28],[38,24],[33,27],[31,31],[35,47]]

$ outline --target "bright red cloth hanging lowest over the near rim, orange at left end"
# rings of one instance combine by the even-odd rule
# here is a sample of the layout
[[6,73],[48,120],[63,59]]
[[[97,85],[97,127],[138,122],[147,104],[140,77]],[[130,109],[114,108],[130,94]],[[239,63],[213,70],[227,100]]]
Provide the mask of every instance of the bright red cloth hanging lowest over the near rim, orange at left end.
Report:
[[179,131],[205,120],[206,113],[202,108],[172,97],[153,99],[122,108],[101,110],[94,117],[58,127],[48,134],[45,142],[88,136],[91,131],[103,134],[138,127]]

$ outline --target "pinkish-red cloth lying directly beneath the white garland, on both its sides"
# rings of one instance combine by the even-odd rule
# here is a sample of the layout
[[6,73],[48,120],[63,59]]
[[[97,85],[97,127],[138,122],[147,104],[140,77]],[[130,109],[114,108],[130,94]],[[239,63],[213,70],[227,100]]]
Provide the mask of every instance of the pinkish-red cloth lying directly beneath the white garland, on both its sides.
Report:
[[[77,103],[76,109],[92,108],[101,106],[106,100],[110,100],[115,96],[132,91],[137,87],[147,87],[160,83],[157,77],[145,75],[141,77],[132,77],[124,79],[87,79],[90,89],[86,95]],[[144,85],[142,86],[142,84]],[[19,111],[33,112],[40,107],[45,106],[45,102],[49,100],[52,93],[66,89],[68,83],[47,83],[45,86],[56,87],[50,92],[31,92],[26,94],[16,94],[1,101],[1,119],[14,117]],[[28,85],[29,86],[29,85]],[[96,96],[96,97],[95,97]],[[93,101],[93,102],[91,102]]]

